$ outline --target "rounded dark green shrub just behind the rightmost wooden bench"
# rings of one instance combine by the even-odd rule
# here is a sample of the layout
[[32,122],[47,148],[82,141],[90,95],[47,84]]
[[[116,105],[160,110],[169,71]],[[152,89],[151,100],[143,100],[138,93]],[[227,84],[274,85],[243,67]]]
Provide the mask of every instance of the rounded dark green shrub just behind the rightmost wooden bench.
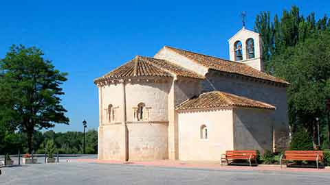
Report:
[[290,148],[292,150],[314,150],[311,136],[304,130],[292,134]]

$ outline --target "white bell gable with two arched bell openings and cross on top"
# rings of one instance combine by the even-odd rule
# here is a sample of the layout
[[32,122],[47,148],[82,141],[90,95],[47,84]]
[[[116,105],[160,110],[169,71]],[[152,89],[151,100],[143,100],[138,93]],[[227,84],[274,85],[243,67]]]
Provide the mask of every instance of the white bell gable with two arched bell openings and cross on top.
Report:
[[261,35],[245,29],[244,13],[242,17],[243,28],[228,40],[230,60],[263,71]]

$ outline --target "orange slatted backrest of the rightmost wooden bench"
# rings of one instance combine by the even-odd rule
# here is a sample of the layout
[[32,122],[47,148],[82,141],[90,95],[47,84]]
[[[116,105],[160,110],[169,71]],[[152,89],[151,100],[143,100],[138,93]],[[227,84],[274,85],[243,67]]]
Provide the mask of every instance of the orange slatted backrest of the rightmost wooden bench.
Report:
[[323,159],[323,151],[299,151],[299,150],[287,150],[285,151],[286,159],[293,160],[316,160],[318,157],[319,160]]

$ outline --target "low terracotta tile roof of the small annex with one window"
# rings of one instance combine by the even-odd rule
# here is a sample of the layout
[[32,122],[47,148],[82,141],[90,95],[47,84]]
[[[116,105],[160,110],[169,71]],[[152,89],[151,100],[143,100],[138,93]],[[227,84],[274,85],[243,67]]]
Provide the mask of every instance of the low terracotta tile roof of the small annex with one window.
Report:
[[187,99],[176,110],[193,110],[203,108],[220,108],[220,107],[247,107],[247,108],[263,108],[275,110],[276,108],[268,103],[240,97],[221,91],[212,91],[203,93],[199,97],[192,97]]

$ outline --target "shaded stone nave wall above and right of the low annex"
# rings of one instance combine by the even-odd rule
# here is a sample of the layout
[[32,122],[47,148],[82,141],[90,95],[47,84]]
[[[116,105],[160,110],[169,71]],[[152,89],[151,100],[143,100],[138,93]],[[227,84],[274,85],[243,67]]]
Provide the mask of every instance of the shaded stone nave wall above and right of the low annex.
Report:
[[202,82],[203,92],[221,90],[250,99],[263,101],[276,106],[270,114],[274,123],[276,151],[285,149],[289,140],[289,123],[287,117],[287,93],[285,87],[254,82],[242,77],[226,77],[217,71],[210,70]]

